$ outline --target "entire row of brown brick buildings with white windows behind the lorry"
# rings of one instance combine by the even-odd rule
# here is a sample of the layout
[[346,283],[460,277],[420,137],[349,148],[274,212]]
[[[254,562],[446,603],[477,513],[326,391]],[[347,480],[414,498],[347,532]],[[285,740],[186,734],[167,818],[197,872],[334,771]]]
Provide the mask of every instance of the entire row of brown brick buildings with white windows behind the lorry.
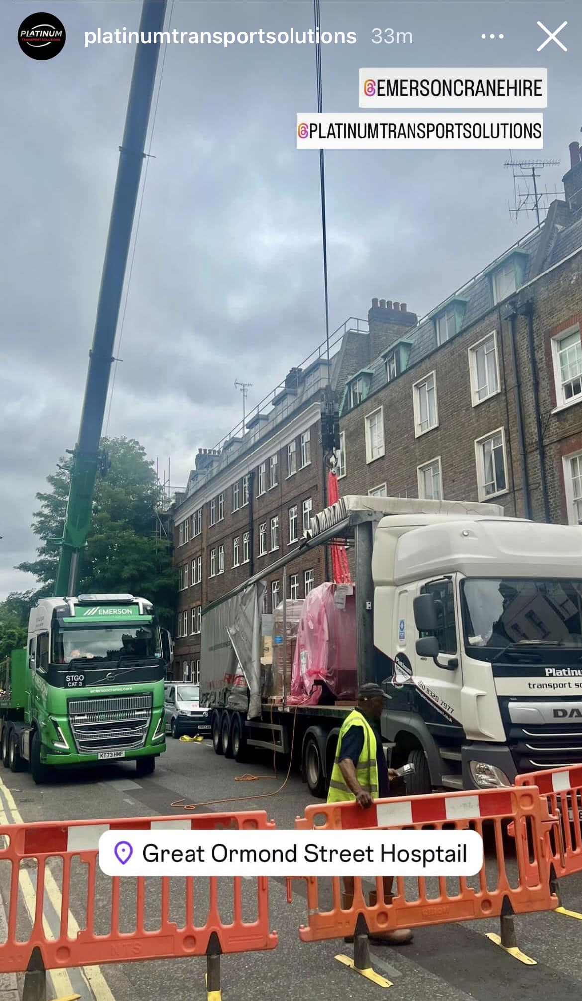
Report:
[[[508,515],[582,522],[582,151],[565,201],[421,319],[373,299],[214,449],[173,510],[180,573],[174,677],[199,671],[201,609],[299,544],[327,503],[321,414],[341,413],[340,492],[491,499]],[[287,568],[304,598],[324,549]],[[267,579],[265,610],[282,575]]]

